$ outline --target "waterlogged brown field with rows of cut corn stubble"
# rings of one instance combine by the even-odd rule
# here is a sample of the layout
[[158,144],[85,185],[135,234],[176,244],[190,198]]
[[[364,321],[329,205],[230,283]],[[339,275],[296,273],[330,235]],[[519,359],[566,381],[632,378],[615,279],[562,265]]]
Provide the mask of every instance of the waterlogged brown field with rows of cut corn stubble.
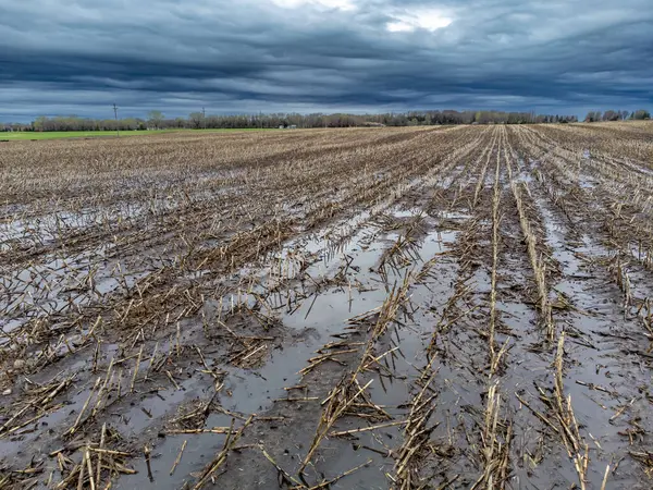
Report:
[[649,489],[653,124],[0,144],[0,489]]

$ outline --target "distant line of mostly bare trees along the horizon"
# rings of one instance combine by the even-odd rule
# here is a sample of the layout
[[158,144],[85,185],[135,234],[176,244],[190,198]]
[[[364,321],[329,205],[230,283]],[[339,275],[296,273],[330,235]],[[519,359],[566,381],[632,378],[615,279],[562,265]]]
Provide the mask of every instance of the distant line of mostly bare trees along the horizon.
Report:
[[[586,121],[648,119],[645,110],[592,111]],[[147,131],[175,128],[275,128],[275,127],[354,127],[354,126],[428,126],[438,124],[531,124],[578,122],[575,115],[535,114],[534,112],[430,110],[389,112],[383,114],[235,114],[208,115],[193,112],[187,118],[165,118],[161,111],[150,111],[147,119],[89,119],[76,115],[39,117],[32,123],[0,123],[0,131]]]

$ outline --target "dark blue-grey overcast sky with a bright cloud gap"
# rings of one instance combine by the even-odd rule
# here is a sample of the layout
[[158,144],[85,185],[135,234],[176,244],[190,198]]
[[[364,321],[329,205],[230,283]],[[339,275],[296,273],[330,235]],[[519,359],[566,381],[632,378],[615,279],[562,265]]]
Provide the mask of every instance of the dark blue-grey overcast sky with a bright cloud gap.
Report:
[[0,120],[653,106],[652,0],[1,0]]

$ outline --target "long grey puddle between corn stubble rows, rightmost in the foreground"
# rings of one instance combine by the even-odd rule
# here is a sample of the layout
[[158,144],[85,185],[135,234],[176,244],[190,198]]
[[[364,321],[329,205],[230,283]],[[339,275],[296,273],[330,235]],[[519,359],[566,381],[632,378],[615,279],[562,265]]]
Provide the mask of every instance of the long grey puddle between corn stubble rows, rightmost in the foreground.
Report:
[[[649,377],[630,369],[630,363],[637,363],[637,359],[627,359],[623,345],[611,335],[616,333],[615,321],[620,323],[619,330],[628,331],[638,327],[624,319],[620,293],[611,284],[605,272],[596,269],[596,266],[589,267],[587,261],[579,258],[607,258],[608,250],[588,235],[582,236],[581,243],[569,245],[564,226],[556,224],[558,221],[544,201],[538,200],[537,205],[543,217],[547,244],[563,271],[560,281],[552,287],[552,302],[557,299],[555,291],[558,291],[574,305],[574,309],[554,313],[554,318],[559,327],[567,330],[565,392],[571,396],[586,442],[592,450],[601,446],[592,458],[588,475],[592,485],[599,487],[605,466],[614,464],[613,455],[624,454],[627,445],[627,440],[619,434],[625,420],[617,424],[607,424],[607,420],[625,403],[637,397],[636,387],[649,382]],[[601,387],[607,392],[592,390],[592,387]],[[637,409],[639,407],[633,407],[633,411]],[[646,420],[648,424],[652,421]],[[633,474],[633,479],[630,479],[624,471],[620,485],[637,482]]]

